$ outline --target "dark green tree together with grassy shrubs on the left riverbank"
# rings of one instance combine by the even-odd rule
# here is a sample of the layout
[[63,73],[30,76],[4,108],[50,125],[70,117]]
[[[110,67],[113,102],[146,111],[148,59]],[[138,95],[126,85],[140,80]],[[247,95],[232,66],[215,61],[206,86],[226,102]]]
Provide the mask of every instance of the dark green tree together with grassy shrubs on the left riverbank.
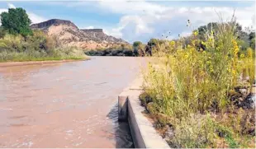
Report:
[[81,49],[61,47],[41,30],[31,30],[31,21],[22,8],[2,12],[1,21],[0,62],[86,58]]

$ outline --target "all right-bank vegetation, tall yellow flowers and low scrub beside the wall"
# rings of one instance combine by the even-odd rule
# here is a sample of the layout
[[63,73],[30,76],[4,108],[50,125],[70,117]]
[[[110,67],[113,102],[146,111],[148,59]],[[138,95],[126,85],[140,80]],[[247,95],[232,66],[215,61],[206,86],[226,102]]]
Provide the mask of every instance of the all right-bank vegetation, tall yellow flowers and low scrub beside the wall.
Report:
[[141,103],[170,147],[255,147],[254,45],[243,47],[235,20],[202,28],[149,42],[157,58],[144,74]]

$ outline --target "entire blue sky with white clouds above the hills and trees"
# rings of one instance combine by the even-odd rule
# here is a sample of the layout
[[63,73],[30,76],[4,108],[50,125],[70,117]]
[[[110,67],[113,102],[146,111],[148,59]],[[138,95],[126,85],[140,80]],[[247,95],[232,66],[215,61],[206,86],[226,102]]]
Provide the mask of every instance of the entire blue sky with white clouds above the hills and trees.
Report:
[[[26,9],[33,23],[50,19],[69,20],[80,29],[101,28],[107,35],[130,43],[186,36],[198,26],[220,21],[220,18],[229,21],[234,11],[243,28],[255,26],[254,1],[0,0],[0,13],[14,7]],[[191,22],[190,27],[187,27],[187,20]]]

